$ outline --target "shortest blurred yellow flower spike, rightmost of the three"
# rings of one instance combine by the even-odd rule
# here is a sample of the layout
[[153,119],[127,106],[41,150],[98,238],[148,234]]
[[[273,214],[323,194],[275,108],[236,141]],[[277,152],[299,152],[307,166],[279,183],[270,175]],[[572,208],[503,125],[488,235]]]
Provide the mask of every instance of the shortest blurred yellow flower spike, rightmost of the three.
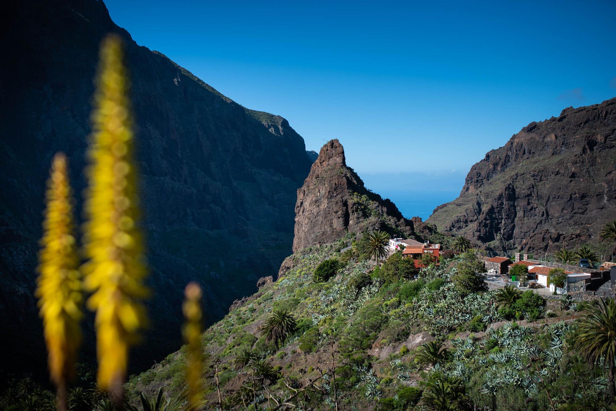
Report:
[[184,341],[188,345],[188,360],[186,365],[186,382],[188,385],[188,410],[197,410],[203,405],[203,382],[201,372],[201,287],[196,282],[190,282],[184,290]]

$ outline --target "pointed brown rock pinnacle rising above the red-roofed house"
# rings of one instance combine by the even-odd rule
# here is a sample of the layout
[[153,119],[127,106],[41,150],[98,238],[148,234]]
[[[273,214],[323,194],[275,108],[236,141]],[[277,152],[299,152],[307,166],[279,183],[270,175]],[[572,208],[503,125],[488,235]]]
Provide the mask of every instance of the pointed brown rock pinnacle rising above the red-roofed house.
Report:
[[[421,220],[418,223],[424,226]],[[342,145],[331,140],[321,148],[298,190],[293,251],[334,241],[347,232],[380,229],[408,237],[415,234],[413,228],[413,221],[402,217],[393,202],[365,188],[347,166]]]

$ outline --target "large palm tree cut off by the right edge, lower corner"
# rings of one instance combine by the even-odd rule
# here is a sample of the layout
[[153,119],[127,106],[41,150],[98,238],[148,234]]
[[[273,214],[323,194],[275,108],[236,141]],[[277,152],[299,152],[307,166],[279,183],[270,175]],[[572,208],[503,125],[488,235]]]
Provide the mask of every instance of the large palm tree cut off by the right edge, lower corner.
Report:
[[614,298],[585,307],[586,316],[577,321],[575,347],[588,364],[601,362],[609,369],[609,398],[614,403],[614,361],[616,360],[616,303]]

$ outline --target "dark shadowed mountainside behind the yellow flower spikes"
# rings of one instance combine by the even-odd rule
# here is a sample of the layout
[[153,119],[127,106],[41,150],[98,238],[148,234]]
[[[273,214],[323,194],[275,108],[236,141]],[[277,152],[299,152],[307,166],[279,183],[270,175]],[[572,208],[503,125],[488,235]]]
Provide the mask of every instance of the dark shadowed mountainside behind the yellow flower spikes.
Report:
[[[182,289],[200,281],[211,323],[291,252],[304,140],[280,116],[220,94],[164,55],[137,46],[102,1],[3,2],[0,29],[0,370],[43,371],[36,253],[51,158],[70,161],[78,217],[99,44],[126,43],[150,282],[150,332],[133,365],[177,349]],[[87,322],[91,324],[91,322]],[[86,325],[90,327],[91,325]],[[94,357],[92,330],[84,352]],[[83,360],[83,359],[82,359]]]

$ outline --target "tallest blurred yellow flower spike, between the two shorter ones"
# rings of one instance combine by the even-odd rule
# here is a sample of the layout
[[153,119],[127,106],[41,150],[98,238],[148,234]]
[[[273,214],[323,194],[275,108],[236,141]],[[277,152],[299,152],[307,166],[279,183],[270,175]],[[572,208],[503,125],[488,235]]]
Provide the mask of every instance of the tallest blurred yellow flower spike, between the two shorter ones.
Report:
[[132,119],[120,38],[108,36],[100,50],[94,131],[87,168],[83,265],[87,301],[96,311],[98,379],[120,401],[128,353],[147,317],[142,298],[147,275],[137,229],[136,167]]

